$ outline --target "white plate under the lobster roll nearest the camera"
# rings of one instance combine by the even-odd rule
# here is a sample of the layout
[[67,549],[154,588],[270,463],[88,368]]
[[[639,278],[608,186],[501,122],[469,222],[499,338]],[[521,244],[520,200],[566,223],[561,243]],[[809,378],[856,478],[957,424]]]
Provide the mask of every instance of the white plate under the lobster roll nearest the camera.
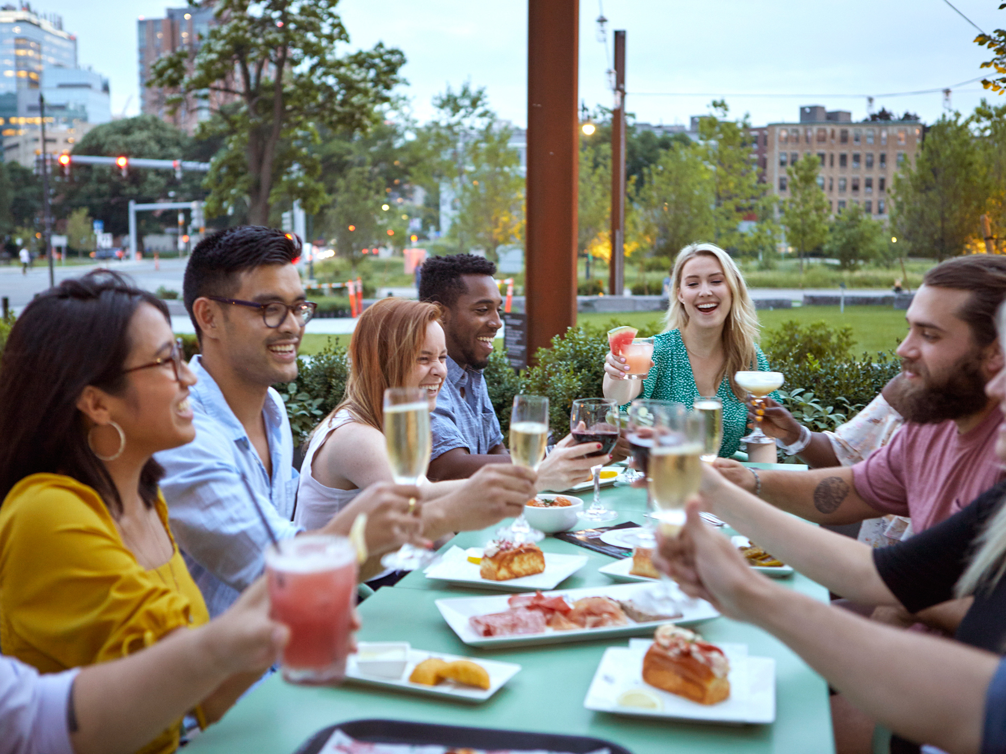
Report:
[[[776,661],[772,657],[748,656],[744,644],[718,644],[730,661],[730,696],[719,704],[700,705],[643,682],[643,655],[651,643],[648,639],[633,639],[629,646],[606,649],[583,707],[616,715],[732,725],[776,720]],[[631,689],[645,689],[660,700],[661,709],[619,705],[619,696]]]

